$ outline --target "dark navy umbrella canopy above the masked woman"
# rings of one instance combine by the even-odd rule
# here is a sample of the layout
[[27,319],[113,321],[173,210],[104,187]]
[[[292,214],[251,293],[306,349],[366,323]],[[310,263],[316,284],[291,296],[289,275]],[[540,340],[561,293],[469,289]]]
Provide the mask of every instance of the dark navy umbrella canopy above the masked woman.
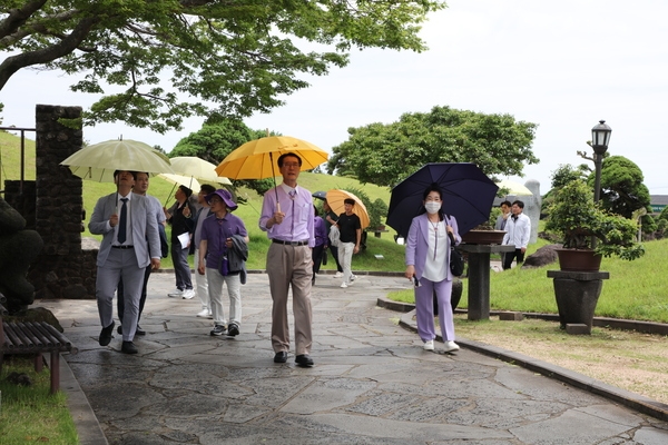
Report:
[[392,189],[387,225],[404,238],[424,207],[422,196],[432,185],[443,191],[442,209],[456,218],[460,235],[484,222],[499,187],[474,164],[428,164]]

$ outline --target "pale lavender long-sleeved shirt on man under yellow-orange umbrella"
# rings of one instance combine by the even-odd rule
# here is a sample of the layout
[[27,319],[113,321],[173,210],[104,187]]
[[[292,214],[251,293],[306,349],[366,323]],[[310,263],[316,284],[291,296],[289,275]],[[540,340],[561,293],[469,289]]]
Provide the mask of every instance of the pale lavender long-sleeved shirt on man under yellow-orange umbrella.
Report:
[[[267,233],[269,239],[281,239],[284,241],[308,240],[308,247],[314,247],[313,217],[315,212],[311,191],[297,186],[295,188],[297,194],[293,199],[288,195],[288,190],[289,187],[281,184],[278,187],[265,192],[258,226],[263,231]],[[283,222],[275,224],[271,229],[267,229],[267,220],[276,211],[276,194],[278,194],[281,211],[285,214],[285,217],[283,218]]]

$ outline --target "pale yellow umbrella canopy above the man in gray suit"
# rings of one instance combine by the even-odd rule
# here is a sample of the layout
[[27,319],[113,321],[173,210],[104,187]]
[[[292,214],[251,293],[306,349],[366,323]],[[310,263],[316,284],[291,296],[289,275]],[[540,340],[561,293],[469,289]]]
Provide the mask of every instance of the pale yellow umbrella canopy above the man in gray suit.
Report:
[[62,162],[73,175],[99,182],[114,182],[115,170],[174,174],[169,158],[136,140],[108,140],[84,147]]

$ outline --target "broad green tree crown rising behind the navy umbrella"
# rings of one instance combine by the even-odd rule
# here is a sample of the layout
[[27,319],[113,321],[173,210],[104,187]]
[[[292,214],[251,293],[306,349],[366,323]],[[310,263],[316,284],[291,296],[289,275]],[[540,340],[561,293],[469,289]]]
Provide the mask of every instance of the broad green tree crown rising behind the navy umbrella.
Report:
[[348,128],[327,171],[389,187],[428,162],[474,162],[489,176],[521,175],[524,164],[538,162],[531,151],[536,127],[510,115],[434,107],[390,125]]

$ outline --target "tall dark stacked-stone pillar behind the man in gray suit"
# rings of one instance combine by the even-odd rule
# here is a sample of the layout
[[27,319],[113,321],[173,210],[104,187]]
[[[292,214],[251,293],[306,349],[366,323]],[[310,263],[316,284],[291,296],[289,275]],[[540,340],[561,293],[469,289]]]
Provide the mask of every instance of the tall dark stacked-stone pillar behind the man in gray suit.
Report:
[[35,226],[45,241],[29,279],[36,298],[95,298],[97,250],[81,250],[82,182],[60,162],[84,144],[81,129],[59,119],[81,117],[81,107],[36,107]]

